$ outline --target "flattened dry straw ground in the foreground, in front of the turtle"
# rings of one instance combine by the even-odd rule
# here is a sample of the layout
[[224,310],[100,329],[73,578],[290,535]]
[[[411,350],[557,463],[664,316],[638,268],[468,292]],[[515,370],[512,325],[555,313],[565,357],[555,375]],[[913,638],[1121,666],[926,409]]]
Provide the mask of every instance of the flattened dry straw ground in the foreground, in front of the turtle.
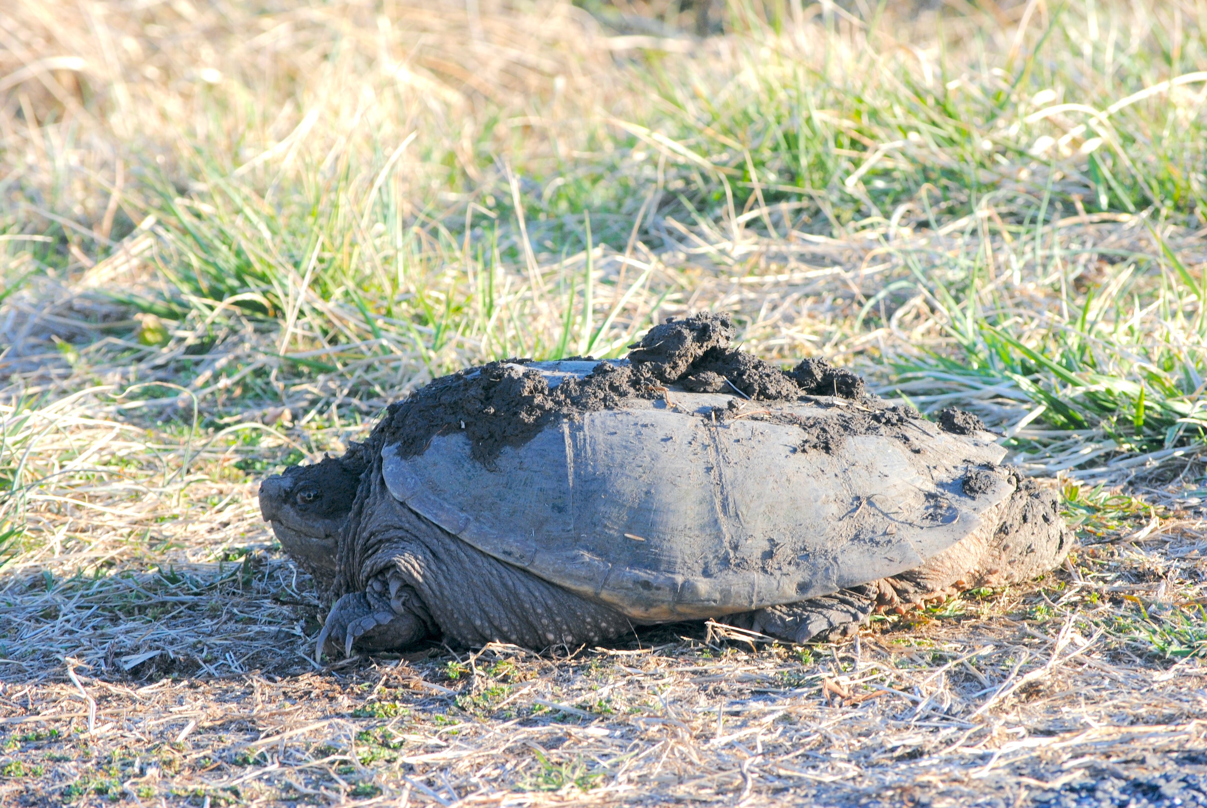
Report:
[[151,575],[10,577],[6,620],[45,656],[4,662],[0,803],[1207,801],[1207,670],[1154,649],[1201,603],[1200,522],[845,645],[682,624],[317,665],[305,582],[245,499],[229,511],[241,560],[193,543],[148,552]]

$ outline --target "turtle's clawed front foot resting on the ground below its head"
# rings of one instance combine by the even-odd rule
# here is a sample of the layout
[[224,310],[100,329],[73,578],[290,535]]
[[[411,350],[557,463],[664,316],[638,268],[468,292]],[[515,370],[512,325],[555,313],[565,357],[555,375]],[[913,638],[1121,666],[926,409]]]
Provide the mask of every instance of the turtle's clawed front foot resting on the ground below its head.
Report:
[[338,649],[345,657],[352,647],[365,651],[397,650],[418,643],[435,626],[426,606],[397,576],[378,576],[365,592],[336,601],[319,633],[316,653]]

